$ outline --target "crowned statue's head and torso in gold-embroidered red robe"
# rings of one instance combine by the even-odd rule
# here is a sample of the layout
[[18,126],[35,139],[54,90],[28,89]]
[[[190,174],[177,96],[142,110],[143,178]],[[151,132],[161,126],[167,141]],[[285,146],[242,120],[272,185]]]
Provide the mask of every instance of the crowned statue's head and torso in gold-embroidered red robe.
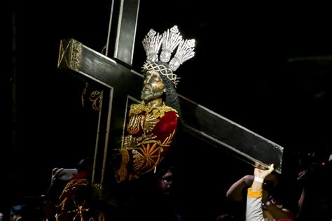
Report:
[[169,150],[181,114],[176,91],[179,78],[174,71],[195,55],[194,43],[194,40],[183,40],[177,26],[167,29],[162,36],[151,29],[144,38],[147,59],[143,66],[142,101],[130,106],[123,146],[119,150],[122,160],[116,171],[118,182],[155,170]]

